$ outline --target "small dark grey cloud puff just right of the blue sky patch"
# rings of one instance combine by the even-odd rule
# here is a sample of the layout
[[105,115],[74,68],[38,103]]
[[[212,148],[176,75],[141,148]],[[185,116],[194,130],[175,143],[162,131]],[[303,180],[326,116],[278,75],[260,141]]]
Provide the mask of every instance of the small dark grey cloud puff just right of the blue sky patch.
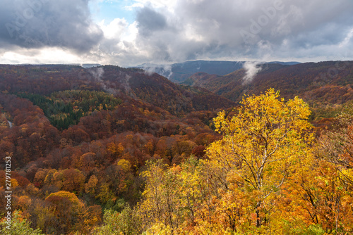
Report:
[[144,7],[137,12],[136,21],[138,30],[143,36],[148,36],[153,31],[163,30],[167,27],[164,15],[149,7]]

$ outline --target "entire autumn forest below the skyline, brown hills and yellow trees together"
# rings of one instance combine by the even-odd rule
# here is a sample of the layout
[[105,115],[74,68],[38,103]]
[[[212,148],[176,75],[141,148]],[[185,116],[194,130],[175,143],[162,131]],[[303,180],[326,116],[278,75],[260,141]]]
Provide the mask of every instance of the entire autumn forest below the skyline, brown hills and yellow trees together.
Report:
[[353,234],[352,62],[0,65],[0,234]]

